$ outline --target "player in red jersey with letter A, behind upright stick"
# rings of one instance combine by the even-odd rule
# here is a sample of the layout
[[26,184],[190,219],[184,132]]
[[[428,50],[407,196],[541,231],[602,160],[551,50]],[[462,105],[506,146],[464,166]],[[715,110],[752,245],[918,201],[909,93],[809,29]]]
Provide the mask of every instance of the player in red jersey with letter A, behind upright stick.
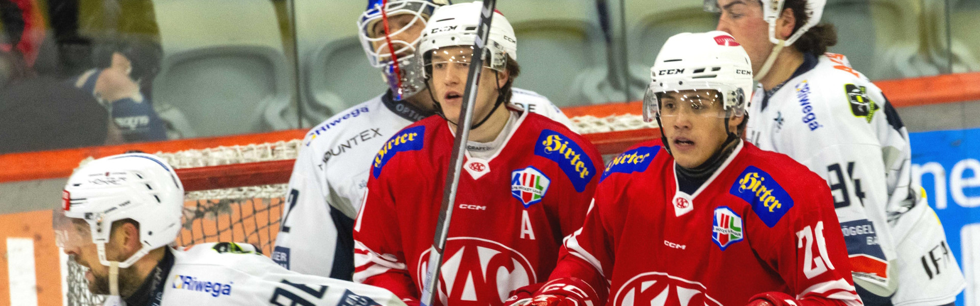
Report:
[[[354,280],[387,288],[409,305],[418,305],[427,270],[481,6],[445,6],[430,18],[416,58],[442,117],[402,129],[381,148],[354,226]],[[494,14],[439,305],[499,306],[516,288],[548,280],[603,171],[584,138],[510,104],[516,40],[507,19]]]

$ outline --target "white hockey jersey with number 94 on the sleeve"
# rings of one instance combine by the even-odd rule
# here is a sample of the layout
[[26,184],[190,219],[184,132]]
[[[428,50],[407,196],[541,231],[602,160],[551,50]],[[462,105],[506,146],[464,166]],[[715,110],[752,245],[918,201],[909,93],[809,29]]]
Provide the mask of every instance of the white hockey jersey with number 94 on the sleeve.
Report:
[[[782,85],[756,87],[746,138],[827,180],[862,289],[896,306],[953,302],[962,275],[911,183],[908,132],[895,108],[843,55],[805,57]],[[930,252],[942,267],[926,265]],[[867,296],[865,305],[879,304]]]

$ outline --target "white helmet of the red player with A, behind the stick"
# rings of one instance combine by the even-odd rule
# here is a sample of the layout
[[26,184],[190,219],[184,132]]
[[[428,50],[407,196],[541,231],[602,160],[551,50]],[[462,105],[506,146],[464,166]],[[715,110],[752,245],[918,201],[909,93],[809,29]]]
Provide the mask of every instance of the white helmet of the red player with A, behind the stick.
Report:
[[[460,3],[444,6],[435,11],[431,22],[422,31],[422,40],[418,46],[418,60],[422,61],[424,77],[430,76],[431,55],[446,47],[472,47],[476,41],[476,26],[479,25],[483,2]],[[514,26],[498,11],[495,11],[485,55],[485,67],[503,72],[507,68],[507,58],[517,60],[517,39]],[[452,62],[469,63],[472,49],[456,51],[450,54]]]

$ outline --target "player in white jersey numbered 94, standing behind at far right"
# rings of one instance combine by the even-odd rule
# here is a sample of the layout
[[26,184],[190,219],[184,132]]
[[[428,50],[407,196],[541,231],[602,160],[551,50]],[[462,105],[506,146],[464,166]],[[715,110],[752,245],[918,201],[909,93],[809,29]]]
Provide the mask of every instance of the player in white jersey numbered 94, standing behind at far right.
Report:
[[827,180],[865,305],[953,303],[964,287],[946,234],[911,183],[908,132],[881,90],[817,25],[825,0],[706,0],[752,59],[747,140]]

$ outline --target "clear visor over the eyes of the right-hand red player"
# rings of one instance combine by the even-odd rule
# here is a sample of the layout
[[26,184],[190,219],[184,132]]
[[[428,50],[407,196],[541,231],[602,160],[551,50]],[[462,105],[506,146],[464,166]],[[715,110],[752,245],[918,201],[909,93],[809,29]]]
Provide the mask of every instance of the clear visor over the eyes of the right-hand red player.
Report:
[[647,88],[643,96],[643,119],[652,122],[657,117],[698,116],[725,118],[724,97],[715,89],[657,91]]

